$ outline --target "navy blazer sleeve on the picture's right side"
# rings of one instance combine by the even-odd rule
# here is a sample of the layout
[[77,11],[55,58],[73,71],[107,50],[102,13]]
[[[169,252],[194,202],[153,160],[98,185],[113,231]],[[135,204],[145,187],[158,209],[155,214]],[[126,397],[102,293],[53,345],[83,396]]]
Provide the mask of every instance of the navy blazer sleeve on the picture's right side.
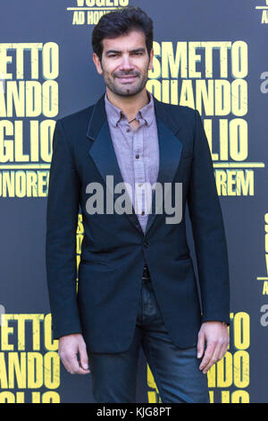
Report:
[[188,186],[188,211],[197,255],[202,322],[230,323],[230,278],[222,209],[201,117],[195,110],[195,136]]

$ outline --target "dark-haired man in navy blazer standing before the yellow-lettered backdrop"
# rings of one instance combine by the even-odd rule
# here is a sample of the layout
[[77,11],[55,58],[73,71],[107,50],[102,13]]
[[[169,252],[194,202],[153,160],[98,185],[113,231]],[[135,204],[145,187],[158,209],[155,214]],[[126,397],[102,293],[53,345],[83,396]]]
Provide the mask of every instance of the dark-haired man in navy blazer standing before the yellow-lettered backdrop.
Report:
[[[59,355],[71,374],[91,373],[96,401],[133,402],[142,346],[163,402],[208,402],[206,373],[228,348],[230,309],[222,211],[202,121],[197,110],[163,104],[147,91],[153,24],[141,9],[105,14],[92,46],[105,94],[54,130],[46,270]],[[152,196],[140,189],[156,182],[171,185],[162,207],[156,187]],[[118,211],[121,183],[132,212]],[[177,185],[182,215],[168,223],[165,202]],[[105,211],[94,213],[101,190]]]

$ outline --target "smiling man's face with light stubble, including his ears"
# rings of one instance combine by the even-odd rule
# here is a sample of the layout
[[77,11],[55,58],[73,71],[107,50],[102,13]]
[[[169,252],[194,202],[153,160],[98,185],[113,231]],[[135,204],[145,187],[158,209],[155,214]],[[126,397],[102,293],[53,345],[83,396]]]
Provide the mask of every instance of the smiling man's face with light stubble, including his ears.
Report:
[[96,70],[104,75],[105,85],[121,97],[138,94],[147,84],[148,71],[153,67],[153,49],[147,54],[144,32],[131,30],[128,35],[103,39],[102,63],[96,54]]

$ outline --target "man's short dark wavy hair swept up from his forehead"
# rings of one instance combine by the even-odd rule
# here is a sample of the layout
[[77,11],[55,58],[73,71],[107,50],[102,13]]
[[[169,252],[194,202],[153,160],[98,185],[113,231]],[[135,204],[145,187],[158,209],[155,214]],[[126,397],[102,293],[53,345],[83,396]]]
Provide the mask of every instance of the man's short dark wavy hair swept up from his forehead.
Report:
[[134,6],[121,7],[115,12],[105,13],[92,31],[91,44],[93,51],[102,60],[103,39],[113,39],[130,30],[142,30],[146,37],[148,56],[153,48],[153,21],[142,9]]

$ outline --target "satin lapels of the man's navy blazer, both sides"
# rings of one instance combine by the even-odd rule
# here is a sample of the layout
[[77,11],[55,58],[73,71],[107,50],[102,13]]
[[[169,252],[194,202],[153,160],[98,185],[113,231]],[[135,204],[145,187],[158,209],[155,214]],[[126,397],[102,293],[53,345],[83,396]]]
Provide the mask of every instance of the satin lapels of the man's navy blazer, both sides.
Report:
[[[163,185],[163,192],[166,196],[168,189],[164,189],[164,183],[172,183],[180,163],[182,143],[178,137],[176,137],[176,134],[180,131],[180,127],[172,120],[172,117],[166,111],[165,104],[155,99],[155,97],[153,98],[155,103],[155,117],[159,142],[159,172],[157,182]],[[116,154],[113,149],[113,141],[105,113],[105,94],[102,95],[95,104],[93,113],[88,123],[87,136],[89,139],[94,141],[88,153],[91,159],[95,162],[96,168],[103,177],[105,184],[107,181],[106,176],[113,175],[113,185],[110,185],[109,183],[108,185],[106,184],[106,187],[110,193],[116,197],[119,193],[113,193],[113,188],[118,183],[123,183],[123,179]],[[125,213],[125,215],[130,219],[130,222],[134,225],[134,227],[138,228],[140,233],[146,236],[155,220],[155,217],[157,216],[157,209],[159,209],[162,203],[158,203],[158,206],[155,209],[154,191],[152,195],[151,213],[148,216],[145,234],[139,224],[133,205],[132,212]]]

